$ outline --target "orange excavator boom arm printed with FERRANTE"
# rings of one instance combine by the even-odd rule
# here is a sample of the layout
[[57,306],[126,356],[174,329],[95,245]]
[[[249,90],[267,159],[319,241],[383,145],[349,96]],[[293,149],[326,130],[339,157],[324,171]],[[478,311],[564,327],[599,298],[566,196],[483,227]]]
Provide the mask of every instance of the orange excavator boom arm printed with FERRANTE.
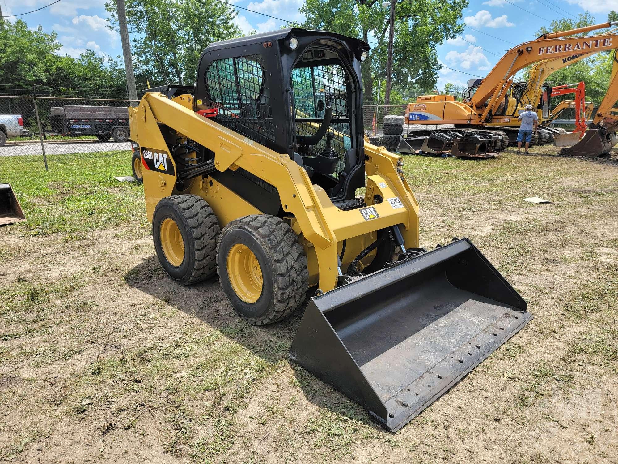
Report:
[[[480,122],[484,122],[489,111],[494,110],[504,92],[512,82],[513,76],[530,64],[544,61],[551,56],[553,59],[566,58],[574,53],[598,53],[616,48],[618,34],[606,33],[588,37],[567,37],[565,36],[590,32],[607,27],[618,25],[618,21],[606,22],[593,26],[577,28],[561,32],[544,34],[540,38],[522,43],[510,49],[497,62],[496,66],[483,79],[481,85],[476,89],[470,103],[473,110],[485,106]],[[476,110],[478,111],[478,110]]]

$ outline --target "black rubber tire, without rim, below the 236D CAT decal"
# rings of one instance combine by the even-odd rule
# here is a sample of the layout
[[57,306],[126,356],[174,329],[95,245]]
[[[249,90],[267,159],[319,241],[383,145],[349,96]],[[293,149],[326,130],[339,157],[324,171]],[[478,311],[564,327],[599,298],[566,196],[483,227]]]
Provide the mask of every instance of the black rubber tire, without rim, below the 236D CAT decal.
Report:
[[[182,264],[172,265],[161,247],[161,222],[171,218],[182,234],[185,255]],[[161,267],[169,278],[189,285],[212,277],[216,272],[219,221],[206,200],[197,195],[172,195],[159,200],[153,216],[153,239]]]

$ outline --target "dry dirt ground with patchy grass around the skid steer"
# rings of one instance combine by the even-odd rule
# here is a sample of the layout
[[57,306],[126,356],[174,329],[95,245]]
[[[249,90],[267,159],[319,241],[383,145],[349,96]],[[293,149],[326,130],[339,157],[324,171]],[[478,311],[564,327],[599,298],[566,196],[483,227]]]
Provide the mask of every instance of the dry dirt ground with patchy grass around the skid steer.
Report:
[[472,239],[535,319],[396,434],[287,360],[301,314],[172,283],[143,218],[0,229],[0,460],[617,463],[618,158],[552,153],[405,158],[421,246]]

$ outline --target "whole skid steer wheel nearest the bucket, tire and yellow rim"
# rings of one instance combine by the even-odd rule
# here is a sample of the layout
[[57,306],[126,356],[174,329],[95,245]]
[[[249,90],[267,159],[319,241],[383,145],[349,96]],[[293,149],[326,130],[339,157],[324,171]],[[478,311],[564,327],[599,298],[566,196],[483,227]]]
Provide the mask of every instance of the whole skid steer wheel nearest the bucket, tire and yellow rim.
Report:
[[235,311],[253,325],[289,316],[307,293],[307,257],[298,236],[271,215],[245,216],[224,227],[217,272]]

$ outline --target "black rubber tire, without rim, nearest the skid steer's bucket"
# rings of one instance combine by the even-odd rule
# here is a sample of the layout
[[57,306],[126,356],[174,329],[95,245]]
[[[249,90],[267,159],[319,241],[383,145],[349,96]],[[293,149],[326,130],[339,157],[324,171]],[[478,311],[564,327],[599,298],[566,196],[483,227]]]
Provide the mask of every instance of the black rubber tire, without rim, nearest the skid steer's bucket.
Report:
[[[235,293],[227,273],[227,255],[237,243],[247,246],[260,263],[262,292],[255,303]],[[231,221],[221,231],[217,252],[219,283],[234,310],[253,325],[277,322],[305,300],[309,272],[297,234],[280,218],[255,214]]]

